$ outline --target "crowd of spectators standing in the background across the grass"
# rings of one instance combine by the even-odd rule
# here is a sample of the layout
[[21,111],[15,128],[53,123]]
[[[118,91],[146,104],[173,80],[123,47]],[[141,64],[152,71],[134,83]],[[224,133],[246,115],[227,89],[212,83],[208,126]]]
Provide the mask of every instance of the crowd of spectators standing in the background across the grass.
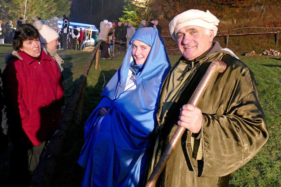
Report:
[[[42,21],[41,17],[37,17],[36,20]],[[52,19],[53,24],[57,27],[56,31],[59,35],[59,45],[57,46],[57,50],[77,50],[81,51],[86,46],[86,41],[88,40],[88,37],[93,38],[94,45],[97,43],[97,36],[99,34],[99,31],[92,32],[92,35],[89,36],[89,30],[85,30],[84,28],[77,28],[76,26],[73,26],[72,29],[69,28],[70,26],[70,20],[67,17],[66,14],[63,15],[63,23],[61,25],[61,28],[59,28],[58,24],[58,17],[53,17]],[[45,20],[46,21],[46,20]],[[0,39],[2,39],[2,43],[12,44],[12,39],[14,37],[14,31],[18,26],[24,23],[24,18],[20,17],[17,20],[17,24],[14,27],[11,20],[8,20],[6,23],[2,22],[0,20],[1,29],[0,29]],[[54,24],[56,23],[56,24]],[[158,32],[162,33],[162,27],[158,24],[158,20],[150,19],[150,21],[147,23],[146,20],[142,20],[141,24],[138,28],[135,28],[132,26],[132,23],[125,21],[122,23],[121,21],[113,20],[112,22],[112,29],[114,30],[111,36],[109,38],[109,53],[124,53],[126,52],[128,48],[128,42],[130,41],[131,37],[133,36],[134,32],[138,28],[144,28],[144,27],[153,27],[158,30]],[[1,40],[0,40],[1,41]],[[101,45],[101,49],[103,49],[103,44]],[[113,56],[113,55],[111,55]],[[108,58],[111,59],[111,58]]]

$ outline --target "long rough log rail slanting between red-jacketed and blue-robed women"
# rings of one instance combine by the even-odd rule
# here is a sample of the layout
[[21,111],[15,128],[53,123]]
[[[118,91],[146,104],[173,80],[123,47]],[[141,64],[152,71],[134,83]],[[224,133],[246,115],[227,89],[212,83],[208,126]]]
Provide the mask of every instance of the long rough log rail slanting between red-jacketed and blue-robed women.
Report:
[[64,139],[69,134],[70,126],[73,123],[78,124],[81,122],[83,101],[87,84],[87,74],[93,60],[96,59],[94,57],[98,52],[99,45],[101,43],[102,41],[99,41],[95,46],[84,68],[84,72],[81,74],[76,87],[71,93],[71,97],[65,106],[65,110],[63,111],[62,120],[59,122],[56,132],[50,139],[46,150],[39,161],[33,178],[31,179],[30,187],[48,187],[51,185],[52,175],[55,172],[60,155],[62,154]]

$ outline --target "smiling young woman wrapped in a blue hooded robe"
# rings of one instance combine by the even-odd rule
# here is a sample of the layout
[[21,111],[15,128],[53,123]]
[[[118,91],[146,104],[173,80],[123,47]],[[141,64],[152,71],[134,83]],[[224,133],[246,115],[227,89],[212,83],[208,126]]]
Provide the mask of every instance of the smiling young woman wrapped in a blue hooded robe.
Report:
[[[141,53],[147,48],[151,49],[143,58]],[[78,160],[85,168],[81,186],[144,185],[147,161],[152,156],[149,148],[158,126],[159,93],[170,69],[158,31],[138,29],[122,66],[85,123],[85,145]]]

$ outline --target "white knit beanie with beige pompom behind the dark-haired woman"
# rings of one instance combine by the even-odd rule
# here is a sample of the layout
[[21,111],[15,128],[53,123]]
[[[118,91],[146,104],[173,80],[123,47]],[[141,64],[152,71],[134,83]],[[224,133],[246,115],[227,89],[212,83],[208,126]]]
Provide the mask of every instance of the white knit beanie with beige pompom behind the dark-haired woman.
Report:
[[42,44],[52,42],[58,38],[58,33],[47,25],[43,25],[41,21],[35,21],[33,25],[38,29],[41,35],[40,40]]

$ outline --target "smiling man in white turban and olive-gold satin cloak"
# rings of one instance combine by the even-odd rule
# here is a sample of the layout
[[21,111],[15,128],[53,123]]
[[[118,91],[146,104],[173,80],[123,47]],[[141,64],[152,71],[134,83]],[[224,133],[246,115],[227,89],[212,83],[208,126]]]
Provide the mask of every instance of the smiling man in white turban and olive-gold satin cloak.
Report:
[[[182,57],[163,83],[157,118],[158,161],[177,126],[187,129],[157,186],[228,186],[230,173],[247,163],[268,139],[253,73],[232,51],[213,41],[219,20],[208,10],[188,10],[169,24]],[[197,107],[187,104],[210,63],[221,60]],[[162,152],[163,153],[163,152]]]

